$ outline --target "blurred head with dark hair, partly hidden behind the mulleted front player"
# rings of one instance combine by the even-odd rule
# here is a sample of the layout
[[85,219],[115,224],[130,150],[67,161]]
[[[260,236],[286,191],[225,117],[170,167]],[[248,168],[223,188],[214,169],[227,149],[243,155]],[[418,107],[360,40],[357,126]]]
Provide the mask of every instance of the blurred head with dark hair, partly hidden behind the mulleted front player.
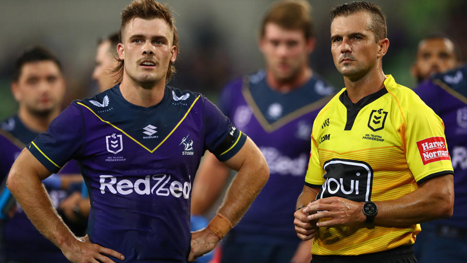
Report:
[[117,45],[120,43],[118,33],[113,33],[107,38],[99,40],[95,67],[92,72],[92,79],[99,85],[99,93],[110,89],[117,84],[118,76],[111,73],[112,69],[118,65]]

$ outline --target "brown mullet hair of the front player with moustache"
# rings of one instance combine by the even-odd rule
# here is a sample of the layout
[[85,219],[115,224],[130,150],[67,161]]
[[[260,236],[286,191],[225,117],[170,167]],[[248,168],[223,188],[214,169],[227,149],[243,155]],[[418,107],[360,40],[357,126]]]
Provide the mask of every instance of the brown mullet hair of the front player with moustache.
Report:
[[[126,24],[135,18],[141,19],[162,19],[164,20],[169,27],[174,32],[174,38],[172,39],[172,45],[176,46],[177,49],[179,47],[179,35],[177,31],[177,27],[175,27],[175,19],[171,14],[169,8],[165,5],[162,5],[155,0],[134,0],[129,5],[127,5],[122,10],[122,24],[120,25],[120,31],[118,36],[120,38],[120,42],[122,41],[122,33],[125,29]],[[118,65],[114,69],[110,71],[110,73],[115,73],[118,76],[116,82],[121,82],[123,79],[123,68],[124,68],[124,60],[117,59]],[[173,75],[175,75],[176,70],[175,66],[172,65],[172,61],[169,61],[169,67],[167,69],[167,76],[165,78],[165,83],[168,83],[170,79],[172,79]]]

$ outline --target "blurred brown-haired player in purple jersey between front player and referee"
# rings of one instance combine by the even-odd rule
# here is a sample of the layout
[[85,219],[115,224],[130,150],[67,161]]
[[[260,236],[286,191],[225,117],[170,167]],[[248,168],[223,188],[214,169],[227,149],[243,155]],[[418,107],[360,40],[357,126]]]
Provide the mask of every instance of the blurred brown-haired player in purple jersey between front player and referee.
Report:
[[[222,91],[221,110],[258,145],[270,171],[266,186],[222,242],[223,263],[311,259],[312,241],[300,244],[290,218],[303,188],[313,120],[333,89],[309,67],[315,45],[310,12],[306,1],[276,2],[258,39],[266,69],[238,78]],[[193,189],[193,214],[209,209],[228,174],[214,155],[205,157]]]

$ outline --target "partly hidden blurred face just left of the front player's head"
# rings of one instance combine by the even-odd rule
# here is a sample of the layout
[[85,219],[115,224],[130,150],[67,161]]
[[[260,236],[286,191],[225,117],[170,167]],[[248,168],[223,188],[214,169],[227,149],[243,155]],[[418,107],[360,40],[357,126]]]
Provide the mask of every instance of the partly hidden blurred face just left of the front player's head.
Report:
[[96,52],[96,67],[92,72],[92,79],[99,84],[99,92],[103,92],[115,85],[115,74],[108,73],[117,67],[117,60],[110,52],[110,41],[106,40],[99,44]]

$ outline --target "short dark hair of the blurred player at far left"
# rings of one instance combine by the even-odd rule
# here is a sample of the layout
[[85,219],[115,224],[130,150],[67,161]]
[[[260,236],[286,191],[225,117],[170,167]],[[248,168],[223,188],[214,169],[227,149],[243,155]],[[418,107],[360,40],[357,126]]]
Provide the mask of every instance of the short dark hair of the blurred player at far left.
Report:
[[45,60],[53,61],[60,72],[62,72],[62,63],[50,50],[42,46],[32,46],[23,50],[16,59],[15,66],[13,68],[13,81],[18,81],[24,64]]

